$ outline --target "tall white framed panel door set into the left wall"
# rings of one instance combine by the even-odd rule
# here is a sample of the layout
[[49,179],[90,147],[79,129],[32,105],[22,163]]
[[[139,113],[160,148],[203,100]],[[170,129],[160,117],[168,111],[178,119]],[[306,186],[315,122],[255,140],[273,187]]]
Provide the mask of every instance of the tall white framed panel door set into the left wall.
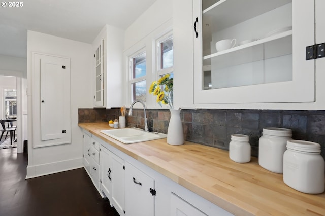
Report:
[[33,57],[33,145],[71,143],[70,58]]

